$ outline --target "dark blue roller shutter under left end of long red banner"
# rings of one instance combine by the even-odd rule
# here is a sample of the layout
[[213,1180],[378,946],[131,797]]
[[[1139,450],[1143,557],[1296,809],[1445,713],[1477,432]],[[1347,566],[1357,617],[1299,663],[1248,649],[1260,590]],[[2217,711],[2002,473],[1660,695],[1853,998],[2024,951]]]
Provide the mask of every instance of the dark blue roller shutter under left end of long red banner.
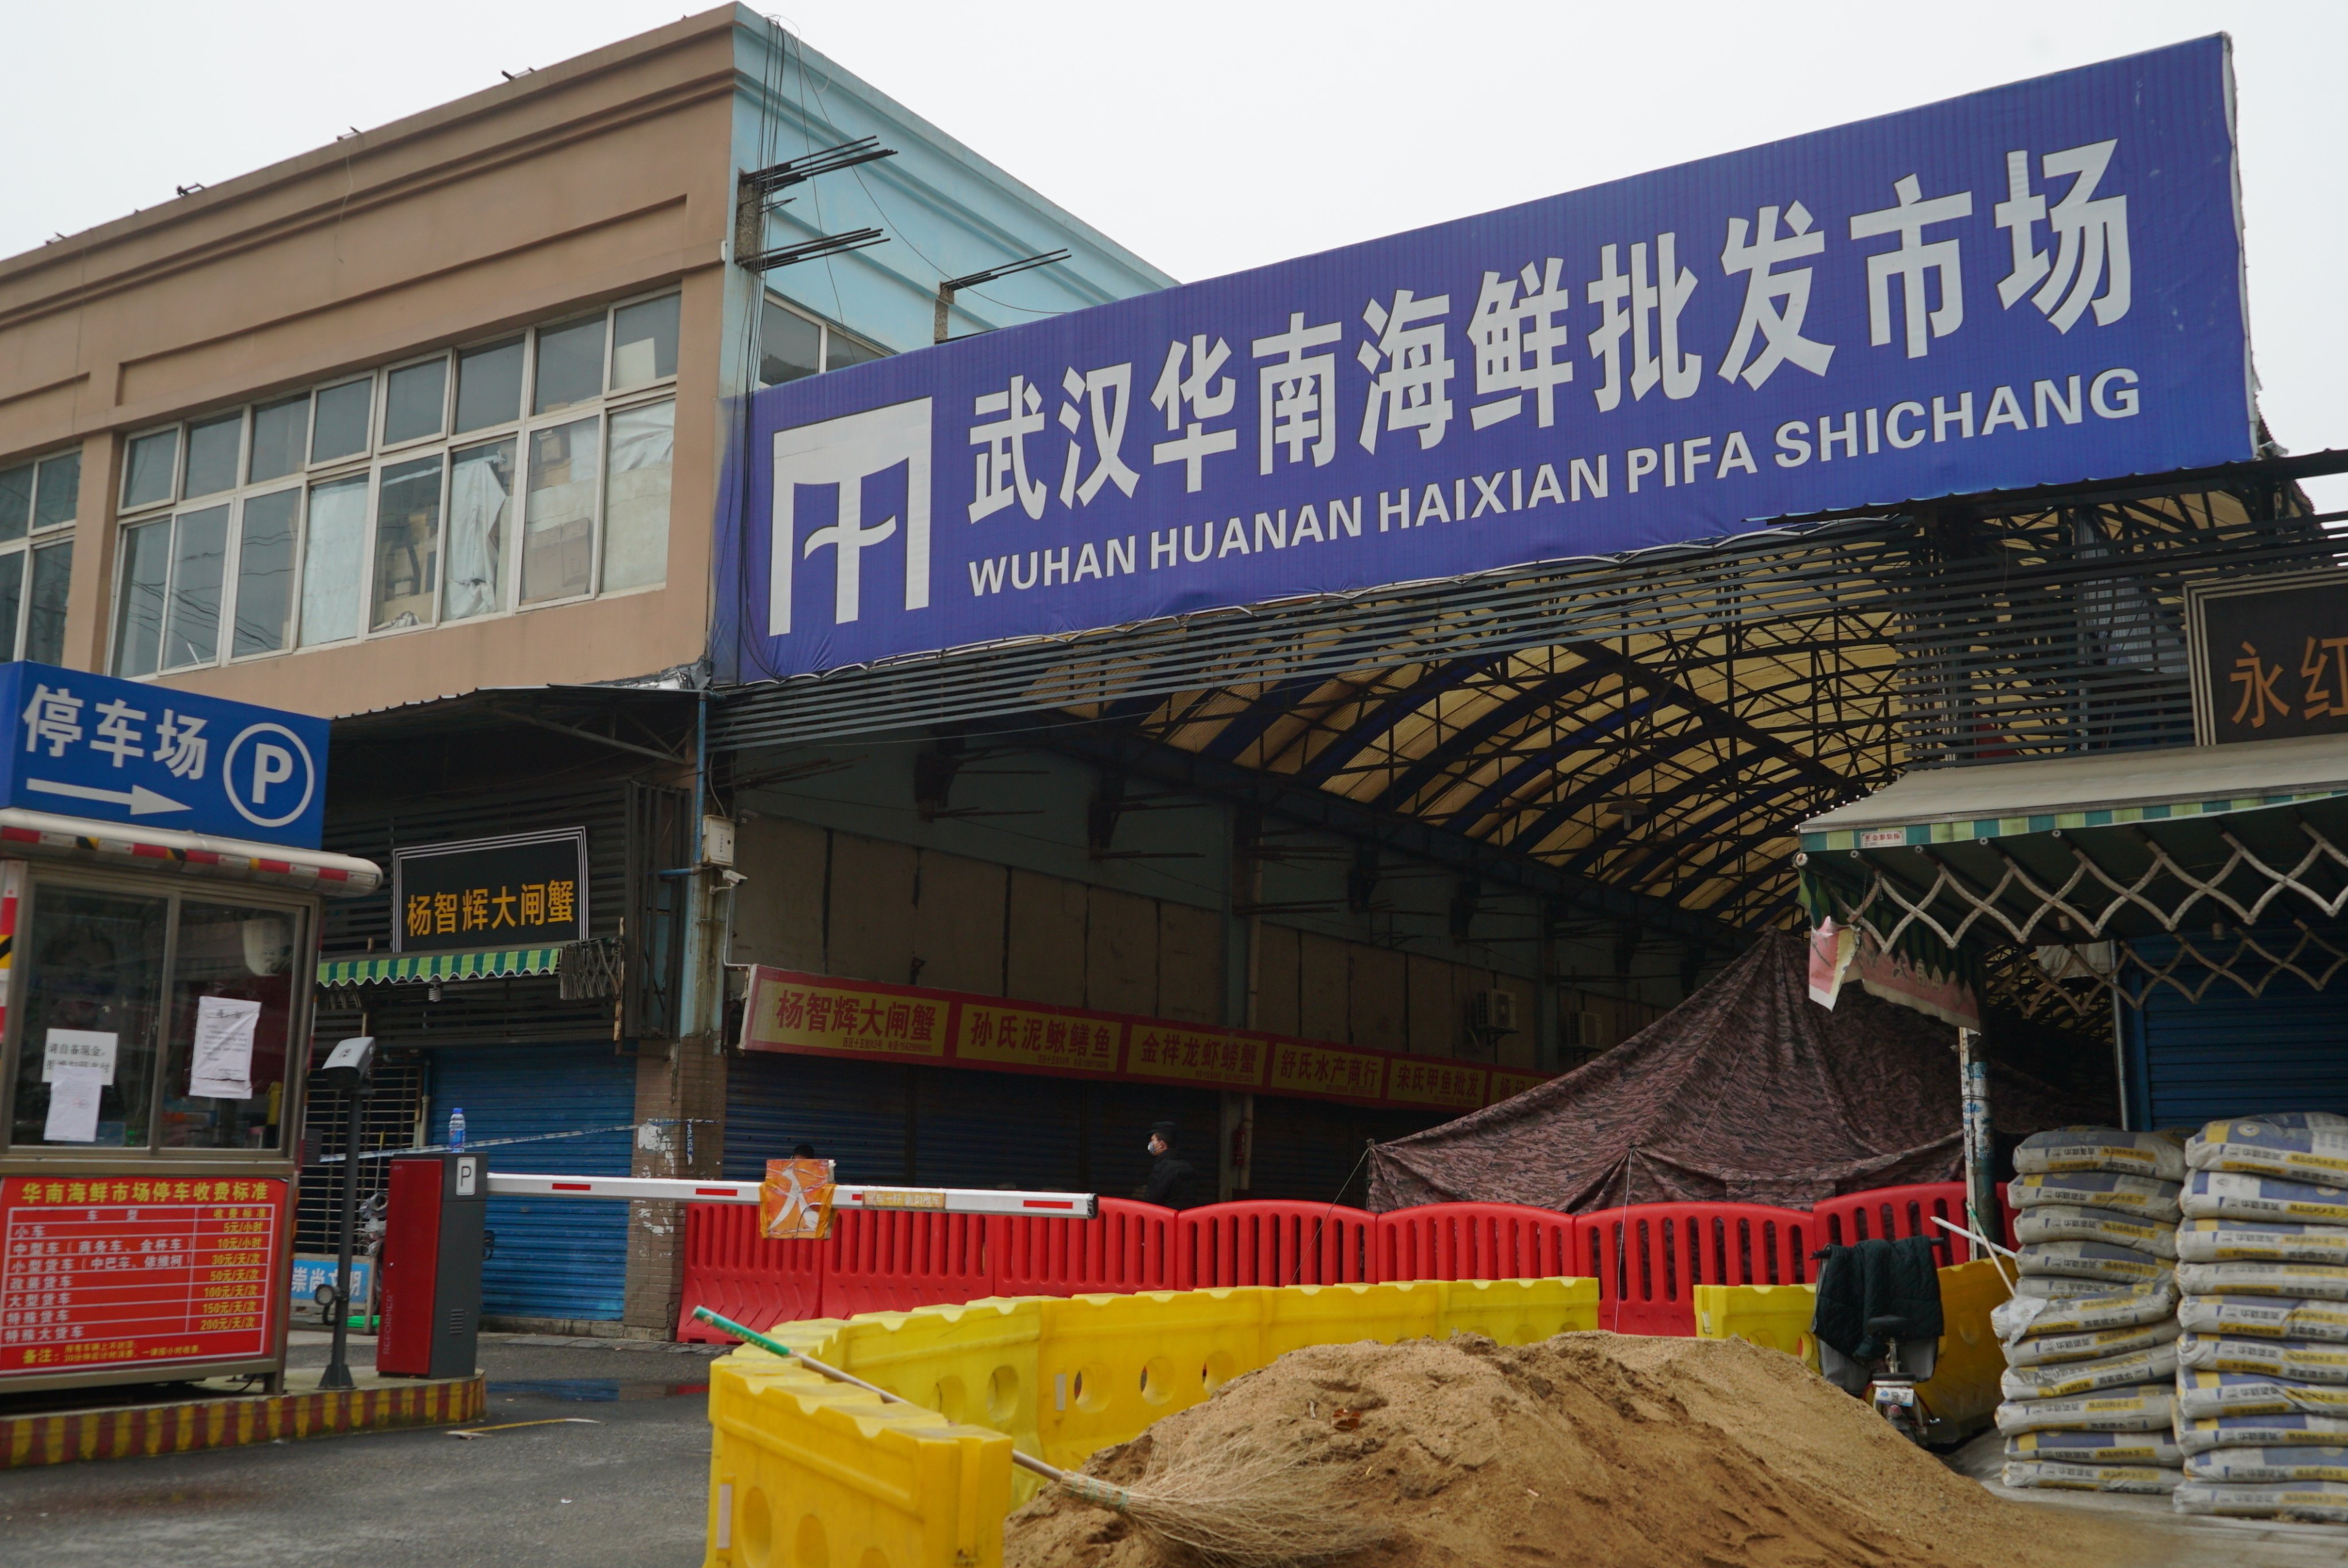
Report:
[[906,1075],[916,1068],[836,1056],[744,1052],[726,1063],[726,1178],[758,1181],[801,1143],[848,1181],[909,1181]]

